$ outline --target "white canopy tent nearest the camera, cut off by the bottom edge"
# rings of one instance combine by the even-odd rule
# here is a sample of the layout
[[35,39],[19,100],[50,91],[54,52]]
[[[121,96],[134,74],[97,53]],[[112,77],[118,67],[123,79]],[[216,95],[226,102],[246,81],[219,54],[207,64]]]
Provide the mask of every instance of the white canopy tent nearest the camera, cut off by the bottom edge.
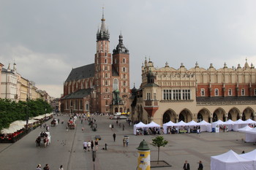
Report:
[[242,158],[233,150],[211,156],[211,170],[252,170],[253,161]]

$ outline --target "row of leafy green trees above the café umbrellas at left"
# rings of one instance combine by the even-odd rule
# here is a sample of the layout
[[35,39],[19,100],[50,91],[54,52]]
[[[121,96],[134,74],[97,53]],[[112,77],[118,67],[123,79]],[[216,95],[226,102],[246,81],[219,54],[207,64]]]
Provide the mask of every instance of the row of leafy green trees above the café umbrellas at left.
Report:
[[36,117],[52,111],[50,104],[42,99],[15,102],[0,98],[0,130],[15,120],[26,120],[27,112],[28,117]]

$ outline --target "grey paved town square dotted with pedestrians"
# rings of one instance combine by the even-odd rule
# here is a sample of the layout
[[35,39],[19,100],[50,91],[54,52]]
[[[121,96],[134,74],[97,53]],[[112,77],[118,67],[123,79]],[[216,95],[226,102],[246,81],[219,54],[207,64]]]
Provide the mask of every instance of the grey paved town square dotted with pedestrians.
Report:
[[[116,125],[116,120],[110,120],[108,116],[92,116],[97,121],[97,131],[83,121],[77,121],[77,128],[66,131],[68,116],[59,116],[64,120],[64,124],[50,127],[51,144],[49,147],[36,147],[35,139],[44,131],[37,128],[31,131],[14,144],[0,144],[1,170],[29,170],[36,169],[37,164],[42,167],[45,163],[50,165],[50,169],[59,169],[62,164],[65,170],[135,170],[137,168],[138,152],[136,147],[145,139],[151,148],[151,161],[157,161],[157,147],[153,147],[151,139],[155,135],[135,136],[133,126],[129,126],[126,120],[118,120],[121,128]],[[48,124],[50,121],[47,122]],[[113,130],[109,128],[110,123],[114,124]],[[122,129],[124,124],[124,131]],[[85,131],[81,129],[85,128]],[[116,133],[116,142],[113,142],[113,133]],[[91,152],[83,151],[84,140],[94,140],[95,135],[100,135],[97,158],[92,161]],[[123,147],[122,138],[129,136],[129,146]],[[198,161],[203,161],[204,170],[210,169],[211,155],[219,155],[228,150],[241,153],[243,150],[249,152],[255,149],[252,143],[244,143],[244,134],[238,132],[208,133],[202,134],[164,134],[164,138],[169,142],[165,147],[160,148],[159,160],[166,161],[171,167],[154,168],[156,170],[180,170],[187,160],[190,169],[197,169]],[[102,150],[108,144],[108,150]]]

